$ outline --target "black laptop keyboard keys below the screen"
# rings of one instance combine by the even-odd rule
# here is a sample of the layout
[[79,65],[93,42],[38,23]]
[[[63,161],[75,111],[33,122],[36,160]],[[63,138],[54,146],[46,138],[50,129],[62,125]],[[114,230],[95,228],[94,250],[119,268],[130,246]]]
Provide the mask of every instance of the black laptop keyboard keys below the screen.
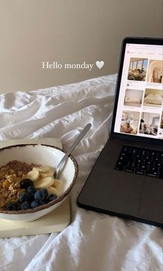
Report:
[[163,151],[123,145],[115,170],[163,179]]

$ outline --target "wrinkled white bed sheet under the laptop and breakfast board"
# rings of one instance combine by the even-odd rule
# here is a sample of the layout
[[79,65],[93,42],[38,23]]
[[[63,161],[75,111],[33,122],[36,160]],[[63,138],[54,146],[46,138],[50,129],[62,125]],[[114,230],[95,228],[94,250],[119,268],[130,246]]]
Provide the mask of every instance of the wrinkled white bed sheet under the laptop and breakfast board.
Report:
[[66,86],[0,95],[0,139],[58,137],[67,149],[91,123],[73,156],[79,177],[72,221],[59,234],[0,239],[0,270],[162,271],[162,230],[77,207],[77,196],[108,139],[116,74]]

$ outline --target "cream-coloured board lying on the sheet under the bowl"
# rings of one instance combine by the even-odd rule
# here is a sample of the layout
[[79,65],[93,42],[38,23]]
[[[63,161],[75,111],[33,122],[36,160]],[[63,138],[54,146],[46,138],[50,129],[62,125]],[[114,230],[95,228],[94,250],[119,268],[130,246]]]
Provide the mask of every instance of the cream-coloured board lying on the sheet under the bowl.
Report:
[[[60,139],[12,139],[10,141],[0,141],[0,148],[7,145],[17,145],[19,143],[45,143],[61,148]],[[59,207],[46,214],[44,217],[30,222],[10,221],[0,219],[0,238],[21,237],[25,235],[44,234],[50,232],[61,232],[70,223],[69,197]]]

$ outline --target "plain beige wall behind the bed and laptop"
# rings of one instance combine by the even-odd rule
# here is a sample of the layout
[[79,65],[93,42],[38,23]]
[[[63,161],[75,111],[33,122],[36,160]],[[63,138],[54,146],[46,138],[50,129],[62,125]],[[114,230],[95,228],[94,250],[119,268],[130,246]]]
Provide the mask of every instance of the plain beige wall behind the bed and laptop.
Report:
[[[162,0],[0,0],[0,92],[34,90],[117,72],[126,36],[162,36]],[[42,70],[42,61],[99,70]]]

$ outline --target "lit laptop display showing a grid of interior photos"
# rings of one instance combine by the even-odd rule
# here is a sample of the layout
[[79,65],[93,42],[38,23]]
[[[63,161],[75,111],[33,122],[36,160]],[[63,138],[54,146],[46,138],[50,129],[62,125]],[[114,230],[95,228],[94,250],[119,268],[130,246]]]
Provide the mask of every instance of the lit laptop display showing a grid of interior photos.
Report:
[[163,139],[163,46],[126,43],[114,132]]

